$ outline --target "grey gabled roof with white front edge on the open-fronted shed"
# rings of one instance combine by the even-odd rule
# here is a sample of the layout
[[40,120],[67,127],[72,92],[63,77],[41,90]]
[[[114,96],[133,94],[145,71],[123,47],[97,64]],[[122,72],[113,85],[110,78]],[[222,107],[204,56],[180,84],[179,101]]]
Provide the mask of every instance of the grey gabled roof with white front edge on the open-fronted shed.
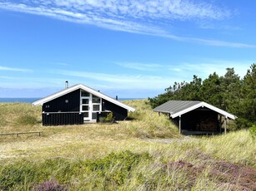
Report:
[[237,118],[235,115],[232,115],[227,111],[221,110],[218,107],[209,105],[208,103],[198,100],[168,100],[167,102],[157,106],[153,110],[157,112],[168,113],[172,118],[175,118],[179,115],[183,115],[191,110],[195,110],[200,107],[206,107],[210,110],[214,110],[218,112],[218,114],[224,115],[225,117],[233,120]]

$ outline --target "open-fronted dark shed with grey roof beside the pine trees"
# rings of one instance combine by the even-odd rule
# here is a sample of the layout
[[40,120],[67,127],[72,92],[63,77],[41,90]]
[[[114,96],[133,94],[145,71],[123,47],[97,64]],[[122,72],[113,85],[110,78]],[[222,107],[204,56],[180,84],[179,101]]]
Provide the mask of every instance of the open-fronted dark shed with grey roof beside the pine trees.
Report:
[[170,119],[178,125],[179,132],[183,134],[220,133],[222,123],[226,133],[228,119],[236,118],[227,111],[197,100],[168,100],[153,110],[168,114]]

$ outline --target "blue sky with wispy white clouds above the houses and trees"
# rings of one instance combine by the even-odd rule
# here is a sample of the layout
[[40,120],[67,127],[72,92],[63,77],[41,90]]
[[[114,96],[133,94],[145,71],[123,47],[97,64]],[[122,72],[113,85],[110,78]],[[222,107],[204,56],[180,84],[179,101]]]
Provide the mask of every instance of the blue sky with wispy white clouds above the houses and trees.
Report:
[[255,63],[256,1],[0,0],[0,97],[157,96]]

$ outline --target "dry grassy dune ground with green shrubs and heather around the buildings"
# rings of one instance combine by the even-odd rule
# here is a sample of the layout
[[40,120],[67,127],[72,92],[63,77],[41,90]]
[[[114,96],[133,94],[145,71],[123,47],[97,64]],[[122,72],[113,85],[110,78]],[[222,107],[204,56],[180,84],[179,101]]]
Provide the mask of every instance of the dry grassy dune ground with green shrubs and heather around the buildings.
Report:
[[39,123],[39,107],[1,104],[0,133],[43,134],[0,136],[0,190],[256,189],[256,141],[248,130],[184,137],[146,100],[126,103],[137,108],[133,120],[48,127]]

